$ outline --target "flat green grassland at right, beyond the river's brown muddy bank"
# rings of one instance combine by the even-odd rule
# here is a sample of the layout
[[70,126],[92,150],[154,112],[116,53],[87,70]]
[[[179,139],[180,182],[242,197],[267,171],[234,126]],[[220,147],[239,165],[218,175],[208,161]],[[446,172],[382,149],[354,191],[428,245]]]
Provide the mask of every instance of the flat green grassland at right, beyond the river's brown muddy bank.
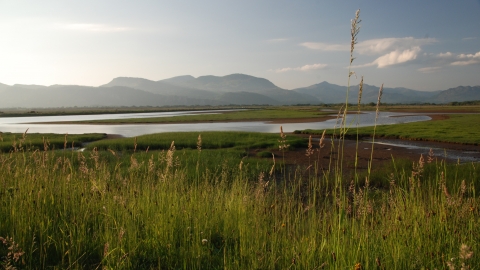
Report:
[[[406,124],[380,125],[376,127],[376,137],[399,138],[420,141],[438,141],[474,144],[480,143],[480,115],[450,114],[450,118],[437,121],[423,121]],[[374,127],[358,129],[359,136],[372,136]],[[323,130],[302,130],[295,133],[322,134]],[[327,134],[332,134],[332,130]],[[357,129],[350,128],[348,136],[356,137]]]

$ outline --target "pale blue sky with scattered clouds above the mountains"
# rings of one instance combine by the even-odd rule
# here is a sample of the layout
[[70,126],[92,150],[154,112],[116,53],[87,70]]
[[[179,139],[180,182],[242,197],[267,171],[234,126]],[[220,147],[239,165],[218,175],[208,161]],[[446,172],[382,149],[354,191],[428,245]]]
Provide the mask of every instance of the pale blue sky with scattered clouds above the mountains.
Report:
[[480,85],[480,0],[0,0],[0,83],[266,78],[294,89]]

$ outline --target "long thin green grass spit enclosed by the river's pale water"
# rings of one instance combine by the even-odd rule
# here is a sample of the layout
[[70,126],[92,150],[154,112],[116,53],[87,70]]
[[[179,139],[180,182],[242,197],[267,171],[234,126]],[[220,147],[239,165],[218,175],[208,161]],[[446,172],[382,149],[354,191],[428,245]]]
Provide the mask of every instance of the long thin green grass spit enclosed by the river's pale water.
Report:
[[331,114],[331,112],[321,112],[318,107],[297,108],[282,107],[260,110],[245,110],[235,112],[223,112],[217,114],[198,114],[172,117],[154,117],[154,118],[131,118],[131,119],[113,119],[113,120],[94,120],[80,121],[78,123],[97,123],[97,124],[122,124],[122,123],[171,123],[171,122],[209,122],[209,121],[267,121],[281,118],[315,118]]

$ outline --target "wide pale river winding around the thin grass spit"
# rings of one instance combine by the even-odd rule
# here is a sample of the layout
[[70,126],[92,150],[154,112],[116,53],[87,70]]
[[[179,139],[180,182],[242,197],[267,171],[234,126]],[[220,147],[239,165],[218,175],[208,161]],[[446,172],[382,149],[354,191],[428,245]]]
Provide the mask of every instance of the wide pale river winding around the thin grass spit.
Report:
[[[285,132],[302,129],[328,129],[339,125],[339,120],[310,123],[269,123],[264,121],[226,122],[226,123],[196,123],[196,124],[129,124],[129,125],[79,125],[79,124],[46,124],[46,122],[86,121],[100,119],[126,119],[168,117],[179,115],[194,115],[205,113],[220,113],[221,111],[184,111],[161,113],[128,113],[128,114],[98,114],[98,115],[68,115],[68,116],[31,116],[31,117],[0,117],[0,132],[23,133],[27,128],[29,133],[107,133],[118,134],[124,137],[134,137],[144,134],[179,131],[254,131],[279,132],[280,125]],[[336,116],[336,115],[335,115]],[[381,112],[377,119],[378,125],[431,120],[426,115],[407,115],[404,113]],[[375,112],[360,115],[348,115],[348,126],[359,127],[375,125]]]

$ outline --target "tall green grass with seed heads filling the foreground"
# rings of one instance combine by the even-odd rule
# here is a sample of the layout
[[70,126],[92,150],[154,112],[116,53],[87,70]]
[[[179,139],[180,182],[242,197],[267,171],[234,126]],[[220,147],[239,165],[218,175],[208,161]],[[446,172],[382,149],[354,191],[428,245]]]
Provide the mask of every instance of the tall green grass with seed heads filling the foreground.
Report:
[[[130,139],[130,147],[121,141],[116,148],[117,142],[111,141],[91,145],[86,152],[23,148],[0,154],[1,265],[25,269],[480,265],[478,164],[449,165],[421,157],[413,164],[393,161],[383,174],[357,173],[354,179],[344,177],[341,163],[331,168],[333,173],[306,174],[302,167],[275,164],[271,171],[271,164],[242,154],[246,144],[265,140],[262,147],[270,147],[271,138],[238,134],[225,135],[226,141],[237,141],[233,145],[215,142],[221,140],[218,133],[184,134],[188,138],[183,142],[180,134],[167,134]],[[340,137],[344,134],[341,131]],[[165,136],[161,144],[148,147],[161,136]],[[164,145],[168,136],[175,142]],[[290,136],[278,136],[276,142],[292,144]],[[323,143],[324,138],[318,147],[310,142],[310,153],[325,151]],[[333,143],[335,150],[339,144]],[[338,159],[338,154],[332,156],[332,162]]]

